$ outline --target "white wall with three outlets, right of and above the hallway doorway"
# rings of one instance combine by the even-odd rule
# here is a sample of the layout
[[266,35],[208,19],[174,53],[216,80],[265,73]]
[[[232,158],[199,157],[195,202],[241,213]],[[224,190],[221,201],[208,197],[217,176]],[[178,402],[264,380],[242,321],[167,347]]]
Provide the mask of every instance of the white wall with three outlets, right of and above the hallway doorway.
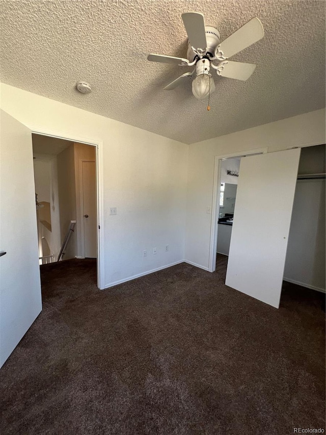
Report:
[[0,102],[35,129],[101,142],[106,287],[184,259],[187,145],[5,84]]

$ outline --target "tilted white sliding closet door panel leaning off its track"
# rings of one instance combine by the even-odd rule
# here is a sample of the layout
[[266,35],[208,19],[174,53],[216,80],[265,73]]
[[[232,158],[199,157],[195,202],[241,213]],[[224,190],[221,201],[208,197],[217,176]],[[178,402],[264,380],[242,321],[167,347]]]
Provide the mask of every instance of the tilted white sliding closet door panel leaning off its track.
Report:
[[241,159],[225,284],[279,308],[300,149]]

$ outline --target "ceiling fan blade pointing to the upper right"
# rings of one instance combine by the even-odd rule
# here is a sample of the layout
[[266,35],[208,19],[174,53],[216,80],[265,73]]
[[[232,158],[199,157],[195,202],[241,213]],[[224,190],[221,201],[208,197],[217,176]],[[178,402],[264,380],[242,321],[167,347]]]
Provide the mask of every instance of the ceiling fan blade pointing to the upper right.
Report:
[[264,36],[264,28],[260,20],[255,17],[242,25],[240,29],[221,42],[219,49],[225,58],[241,52],[259,41]]

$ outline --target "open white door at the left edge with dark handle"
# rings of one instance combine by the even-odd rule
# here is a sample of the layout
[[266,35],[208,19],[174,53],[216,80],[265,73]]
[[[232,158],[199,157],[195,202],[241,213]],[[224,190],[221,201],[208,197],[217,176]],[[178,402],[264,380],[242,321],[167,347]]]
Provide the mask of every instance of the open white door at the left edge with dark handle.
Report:
[[1,111],[0,367],[42,310],[32,133]]

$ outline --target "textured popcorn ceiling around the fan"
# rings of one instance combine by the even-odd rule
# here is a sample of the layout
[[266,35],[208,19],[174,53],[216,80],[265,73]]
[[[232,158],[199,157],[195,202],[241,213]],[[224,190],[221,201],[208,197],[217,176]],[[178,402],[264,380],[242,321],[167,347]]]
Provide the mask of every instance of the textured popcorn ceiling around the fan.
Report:
[[[209,139],[325,106],[325,2],[230,0],[0,0],[1,80],[184,143]],[[186,57],[181,14],[202,12],[225,39],[257,16],[264,38],[231,60],[256,63],[247,82],[215,76],[199,101],[191,70],[147,61]],[[88,95],[77,80],[92,85]]]

